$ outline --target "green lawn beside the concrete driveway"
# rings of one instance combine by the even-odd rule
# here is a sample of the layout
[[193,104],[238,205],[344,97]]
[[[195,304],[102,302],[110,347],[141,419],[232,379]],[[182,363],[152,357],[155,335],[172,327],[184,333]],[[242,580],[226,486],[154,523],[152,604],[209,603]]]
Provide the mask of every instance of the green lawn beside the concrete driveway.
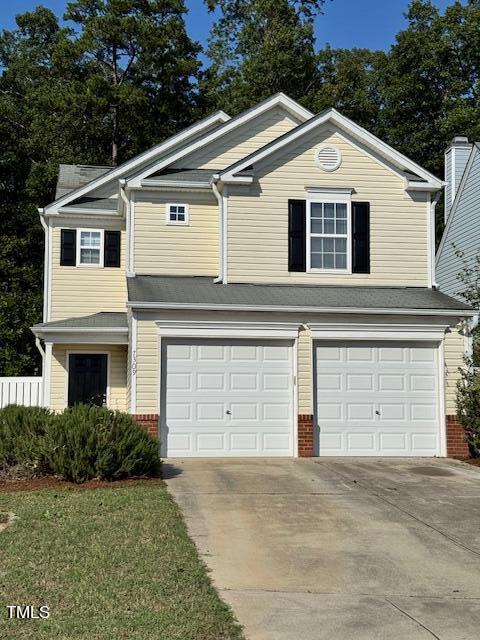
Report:
[[[2,640],[243,638],[161,482],[0,493]],[[7,620],[7,605],[48,620]]]

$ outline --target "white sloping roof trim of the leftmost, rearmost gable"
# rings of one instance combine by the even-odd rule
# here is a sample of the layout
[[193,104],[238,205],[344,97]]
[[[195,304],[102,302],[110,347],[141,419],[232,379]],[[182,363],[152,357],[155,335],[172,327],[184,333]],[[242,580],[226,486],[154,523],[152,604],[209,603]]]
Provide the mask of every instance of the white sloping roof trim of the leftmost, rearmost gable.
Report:
[[168,151],[169,149],[178,145],[179,143],[184,142],[192,135],[201,132],[203,129],[211,127],[212,124],[215,124],[216,122],[225,123],[225,122],[228,122],[229,120],[230,120],[230,116],[227,115],[224,111],[217,111],[211,116],[207,116],[206,118],[203,118],[203,120],[200,120],[199,122],[193,124],[192,126],[187,127],[186,129],[183,129],[182,131],[175,134],[174,136],[167,138],[167,140],[165,140],[164,142],[161,142],[160,144],[155,145],[151,149],[148,149],[147,151],[140,153],[138,156],[135,156],[131,160],[124,162],[120,166],[112,169],[112,171],[108,171],[102,176],[95,178],[95,180],[90,181],[88,184],[84,185],[83,187],[80,187],[80,189],[75,189],[75,191],[71,191],[70,193],[65,194],[61,198],[58,198],[58,200],[51,202],[49,205],[47,205],[44,208],[44,211],[45,213],[47,212],[56,213],[59,207],[65,206],[67,203],[71,202],[72,200],[81,198],[86,193],[89,193],[90,191],[92,191],[92,189],[97,189],[101,185],[107,182],[110,182],[115,178],[119,179],[123,177],[126,172],[132,171],[138,165],[144,162],[148,162],[148,160],[153,159],[155,156],[157,156],[160,153],[164,153],[165,151]]

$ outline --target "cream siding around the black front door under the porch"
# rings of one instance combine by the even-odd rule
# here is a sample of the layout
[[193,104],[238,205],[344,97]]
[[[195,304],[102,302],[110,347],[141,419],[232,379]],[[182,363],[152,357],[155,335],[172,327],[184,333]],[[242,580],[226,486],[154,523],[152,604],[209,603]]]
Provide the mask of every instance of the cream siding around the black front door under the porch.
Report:
[[56,344],[52,350],[50,408],[62,411],[68,404],[67,353],[108,353],[108,406],[127,409],[127,347],[126,345]]

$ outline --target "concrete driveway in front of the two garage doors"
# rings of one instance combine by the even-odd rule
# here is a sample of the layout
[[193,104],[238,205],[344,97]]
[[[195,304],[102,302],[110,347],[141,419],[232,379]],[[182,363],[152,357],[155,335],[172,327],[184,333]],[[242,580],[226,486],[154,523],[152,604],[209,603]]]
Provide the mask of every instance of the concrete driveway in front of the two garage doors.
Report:
[[250,640],[480,638],[480,470],[208,459],[169,489]]

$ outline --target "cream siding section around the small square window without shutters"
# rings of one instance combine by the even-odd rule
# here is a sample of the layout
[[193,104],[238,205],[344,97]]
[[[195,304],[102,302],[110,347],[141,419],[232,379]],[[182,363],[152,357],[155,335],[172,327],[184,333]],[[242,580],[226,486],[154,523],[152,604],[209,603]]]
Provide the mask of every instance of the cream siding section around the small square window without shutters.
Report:
[[[189,224],[167,224],[166,203],[188,204]],[[136,273],[218,275],[218,203],[206,192],[137,193]]]

